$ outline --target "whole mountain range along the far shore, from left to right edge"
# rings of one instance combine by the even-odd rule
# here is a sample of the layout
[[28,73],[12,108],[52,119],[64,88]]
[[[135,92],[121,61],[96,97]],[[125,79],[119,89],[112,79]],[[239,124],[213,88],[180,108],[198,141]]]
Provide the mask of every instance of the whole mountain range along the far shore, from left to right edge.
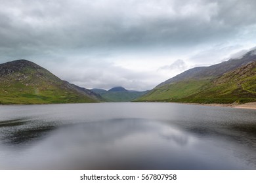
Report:
[[0,64],[0,104],[180,102],[243,104],[256,102],[256,50],[209,67],[195,67],[150,91],[121,86],[86,89],[61,80],[43,67],[20,59]]

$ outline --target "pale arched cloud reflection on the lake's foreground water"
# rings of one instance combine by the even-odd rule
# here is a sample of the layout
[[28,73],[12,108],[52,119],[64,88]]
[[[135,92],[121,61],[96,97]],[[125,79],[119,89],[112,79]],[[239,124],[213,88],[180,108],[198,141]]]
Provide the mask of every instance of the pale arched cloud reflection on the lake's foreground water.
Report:
[[36,143],[28,135],[31,146],[21,152],[7,151],[5,156],[9,158],[0,159],[4,168],[236,169],[244,166],[226,158],[221,148],[159,121],[119,118],[54,128],[47,133],[39,129],[34,136]]

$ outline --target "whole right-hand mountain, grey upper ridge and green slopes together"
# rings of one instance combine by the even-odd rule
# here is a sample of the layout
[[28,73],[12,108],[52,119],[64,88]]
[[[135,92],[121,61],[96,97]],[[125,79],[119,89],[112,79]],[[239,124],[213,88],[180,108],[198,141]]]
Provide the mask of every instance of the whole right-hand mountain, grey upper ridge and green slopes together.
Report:
[[247,103],[256,101],[256,50],[242,58],[177,75],[136,101],[186,103]]

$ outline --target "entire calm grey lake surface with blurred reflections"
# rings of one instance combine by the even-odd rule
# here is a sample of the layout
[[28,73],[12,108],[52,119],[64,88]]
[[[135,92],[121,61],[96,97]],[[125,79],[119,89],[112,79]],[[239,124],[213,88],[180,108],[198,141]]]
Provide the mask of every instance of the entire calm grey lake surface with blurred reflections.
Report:
[[0,169],[256,169],[256,110],[2,105]]

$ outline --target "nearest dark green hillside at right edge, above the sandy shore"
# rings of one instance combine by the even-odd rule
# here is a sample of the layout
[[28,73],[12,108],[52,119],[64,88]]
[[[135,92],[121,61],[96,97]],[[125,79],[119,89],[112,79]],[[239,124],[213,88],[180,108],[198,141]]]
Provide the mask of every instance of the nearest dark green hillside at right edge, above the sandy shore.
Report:
[[256,61],[225,73],[205,90],[186,97],[189,102],[248,103],[256,101]]

